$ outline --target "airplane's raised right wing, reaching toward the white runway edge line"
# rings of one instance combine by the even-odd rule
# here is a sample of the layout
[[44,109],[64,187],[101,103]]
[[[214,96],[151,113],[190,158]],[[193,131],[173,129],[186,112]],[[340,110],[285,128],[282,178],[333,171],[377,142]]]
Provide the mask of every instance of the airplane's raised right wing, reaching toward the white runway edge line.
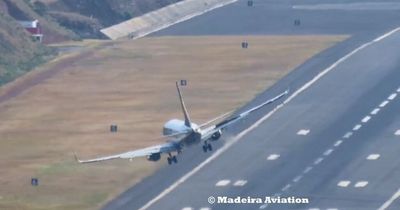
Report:
[[[215,125],[212,125],[212,126],[209,126],[209,127],[205,128],[202,131],[202,139],[204,139],[204,140],[209,139],[211,137],[211,135],[213,135],[215,132],[226,128],[227,126],[239,121],[240,119],[246,117],[248,114],[250,114],[250,113],[252,113],[252,112],[254,112],[256,110],[259,110],[262,107],[264,107],[264,106],[266,106],[268,104],[271,104],[276,100],[279,100],[280,98],[282,98],[283,96],[287,95],[288,93],[289,93],[289,90],[286,90],[285,92],[275,96],[272,99],[269,99],[268,101],[265,101],[264,103],[262,103],[262,104],[260,104],[258,106],[252,107],[252,108],[250,108],[250,109],[248,109],[246,111],[243,111],[243,112],[241,112],[241,113],[239,113],[239,114],[237,114],[235,116],[232,116],[232,117],[230,117],[230,118],[228,118],[226,120],[223,120],[220,123],[217,123]],[[221,116],[224,116],[224,115],[221,115]],[[213,120],[211,120],[211,121],[213,121]]]

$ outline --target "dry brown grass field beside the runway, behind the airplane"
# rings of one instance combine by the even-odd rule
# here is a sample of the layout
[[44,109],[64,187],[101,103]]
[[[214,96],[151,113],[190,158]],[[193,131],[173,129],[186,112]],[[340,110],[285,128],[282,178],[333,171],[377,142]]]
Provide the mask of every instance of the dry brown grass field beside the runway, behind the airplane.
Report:
[[[0,104],[0,209],[97,209],[165,161],[79,165],[73,151],[93,157],[160,143],[163,123],[182,115],[176,80],[188,80],[183,94],[201,123],[342,39],[163,37],[98,50]],[[118,133],[109,132],[112,123]],[[31,177],[39,187],[30,186]]]

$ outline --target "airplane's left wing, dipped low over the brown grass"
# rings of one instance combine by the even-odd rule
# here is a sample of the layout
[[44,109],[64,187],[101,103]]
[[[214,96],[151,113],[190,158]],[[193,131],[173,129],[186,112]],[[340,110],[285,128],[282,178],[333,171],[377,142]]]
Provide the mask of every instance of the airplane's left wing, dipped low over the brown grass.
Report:
[[93,163],[93,162],[101,162],[101,161],[106,161],[106,160],[112,160],[112,159],[133,159],[137,157],[145,157],[149,156],[152,154],[156,153],[169,153],[169,152],[174,152],[179,149],[179,146],[175,142],[167,142],[164,144],[156,145],[156,146],[151,146],[147,147],[144,149],[138,149],[134,151],[129,151],[129,152],[124,152],[121,154],[115,154],[115,155],[110,155],[110,156],[104,156],[104,157],[98,157],[94,159],[88,159],[88,160],[80,160],[76,154],[75,159],[79,163]]

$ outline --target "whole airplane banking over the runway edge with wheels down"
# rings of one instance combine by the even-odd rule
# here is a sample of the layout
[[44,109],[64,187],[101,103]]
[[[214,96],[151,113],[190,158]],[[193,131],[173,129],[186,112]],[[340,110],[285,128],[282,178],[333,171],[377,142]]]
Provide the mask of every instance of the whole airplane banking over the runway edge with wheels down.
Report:
[[128,151],[128,152],[124,152],[121,154],[104,156],[104,157],[88,159],[88,160],[80,160],[80,159],[78,159],[77,155],[74,154],[76,161],[78,161],[79,163],[93,163],[93,162],[100,162],[100,161],[106,161],[106,160],[112,160],[112,159],[130,159],[131,160],[131,159],[137,158],[137,157],[147,157],[147,160],[149,160],[149,161],[158,161],[161,158],[161,154],[165,153],[165,154],[168,154],[167,161],[168,161],[168,164],[171,165],[172,163],[178,162],[178,160],[176,158],[177,155],[172,155],[172,154],[173,153],[180,154],[184,147],[189,147],[189,146],[192,146],[195,144],[202,143],[203,144],[202,148],[203,148],[204,152],[212,151],[213,147],[210,142],[217,141],[218,139],[220,139],[220,137],[222,135],[222,131],[226,127],[228,127],[229,125],[232,125],[233,123],[238,122],[239,120],[243,119],[250,113],[252,113],[256,110],[259,110],[262,107],[279,100],[280,98],[282,98],[283,96],[285,96],[289,93],[289,90],[286,90],[285,92],[275,96],[272,99],[269,99],[269,100],[261,103],[258,106],[252,107],[246,111],[243,111],[239,114],[231,116],[225,120],[222,120],[219,123],[210,125],[213,122],[216,122],[218,120],[225,118],[232,112],[227,112],[227,113],[222,114],[214,119],[207,121],[206,123],[197,125],[190,120],[190,117],[189,117],[188,111],[186,109],[185,102],[183,100],[183,96],[182,96],[181,90],[179,88],[178,82],[176,82],[176,89],[178,91],[178,96],[179,96],[184,120],[171,119],[164,124],[162,137],[168,139],[168,141],[166,143],[147,147],[144,149]]

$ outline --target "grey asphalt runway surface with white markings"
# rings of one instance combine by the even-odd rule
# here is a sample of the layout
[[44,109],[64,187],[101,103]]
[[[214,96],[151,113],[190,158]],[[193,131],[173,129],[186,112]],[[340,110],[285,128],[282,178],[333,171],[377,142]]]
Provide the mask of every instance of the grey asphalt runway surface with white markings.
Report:
[[[399,26],[397,2],[257,0],[153,34],[351,38],[243,107],[290,88],[289,97],[229,128],[216,151],[186,149],[179,164],[166,165],[104,209],[400,209],[400,31],[393,31]],[[309,203],[210,204],[210,196],[296,196]]]

